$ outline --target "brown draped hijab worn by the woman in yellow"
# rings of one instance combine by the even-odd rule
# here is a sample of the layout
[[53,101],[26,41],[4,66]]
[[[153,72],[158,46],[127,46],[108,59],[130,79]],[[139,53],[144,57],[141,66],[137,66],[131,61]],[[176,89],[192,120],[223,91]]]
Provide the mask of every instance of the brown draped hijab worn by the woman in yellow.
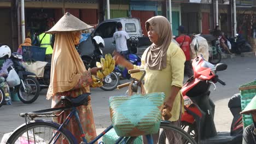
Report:
[[166,52],[172,40],[172,29],[164,16],[154,16],[146,21],[146,31],[152,26],[158,33],[158,43],[149,46],[146,56],[146,65],[149,69],[162,70],[166,68]]

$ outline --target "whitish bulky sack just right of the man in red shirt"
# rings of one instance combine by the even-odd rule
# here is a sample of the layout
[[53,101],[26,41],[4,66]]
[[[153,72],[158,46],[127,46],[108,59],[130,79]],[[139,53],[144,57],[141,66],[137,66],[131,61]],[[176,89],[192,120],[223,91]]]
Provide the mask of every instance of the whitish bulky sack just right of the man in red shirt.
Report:
[[195,38],[190,43],[191,58],[192,59],[196,58],[196,52],[195,52],[195,49],[194,49],[194,46],[196,44],[195,43],[196,39],[197,39],[198,44],[199,44],[198,51],[196,51],[197,56],[202,55],[203,59],[205,59],[205,61],[208,61],[208,59],[209,59],[209,47],[208,47],[207,40],[203,37],[200,37],[199,35],[195,35]]

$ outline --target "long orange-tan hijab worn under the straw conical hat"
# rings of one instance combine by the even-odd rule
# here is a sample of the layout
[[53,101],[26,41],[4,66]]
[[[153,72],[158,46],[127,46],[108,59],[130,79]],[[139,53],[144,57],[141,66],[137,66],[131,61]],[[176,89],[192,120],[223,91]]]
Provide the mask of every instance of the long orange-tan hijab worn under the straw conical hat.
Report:
[[[74,46],[79,43],[79,35],[79,31],[56,33],[47,99],[56,93],[70,91],[86,71]],[[89,92],[89,87],[85,89]]]

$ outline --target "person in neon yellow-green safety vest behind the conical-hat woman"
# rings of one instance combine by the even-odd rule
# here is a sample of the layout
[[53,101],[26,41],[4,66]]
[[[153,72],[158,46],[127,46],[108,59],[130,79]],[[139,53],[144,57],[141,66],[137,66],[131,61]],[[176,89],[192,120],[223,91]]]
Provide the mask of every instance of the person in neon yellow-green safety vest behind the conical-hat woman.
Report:
[[37,36],[37,40],[40,47],[45,47],[45,61],[50,62],[51,61],[51,55],[53,54],[53,35],[48,33],[41,33]]

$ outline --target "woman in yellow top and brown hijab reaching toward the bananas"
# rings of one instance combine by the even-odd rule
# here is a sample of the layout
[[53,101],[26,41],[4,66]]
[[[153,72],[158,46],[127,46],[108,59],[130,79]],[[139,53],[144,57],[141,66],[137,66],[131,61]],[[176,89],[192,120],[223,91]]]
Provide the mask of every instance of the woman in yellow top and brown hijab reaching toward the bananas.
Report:
[[[172,31],[168,20],[163,16],[154,16],[146,22],[146,31],[152,45],[144,51],[140,67],[132,65],[122,56],[115,53],[116,64],[124,65],[127,69],[144,69],[146,93],[164,92],[166,95],[163,119],[171,121],[179,127],[183,111],[183,86],[185,55],[177,44],[172,42]],[[132,74],[139,79],[142,74]],[[177,142],[178,137],[173,131],[166,131],[170,143]],[[154,143],[158,142],[159,134],[155,134]],[[143,143],[147,143],[144,141]],[[179,143],[179,142],[177,142]]]

